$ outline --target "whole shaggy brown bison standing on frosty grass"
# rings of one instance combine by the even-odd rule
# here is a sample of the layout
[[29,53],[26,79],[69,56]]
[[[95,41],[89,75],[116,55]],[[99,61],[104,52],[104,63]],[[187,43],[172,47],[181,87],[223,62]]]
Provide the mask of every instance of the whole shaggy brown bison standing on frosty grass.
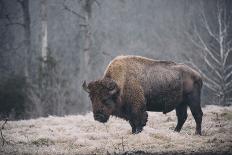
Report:
[[108,65],[100,80],[83,83],[92,101],[94,119],[105,123],[109,116],[129,121],[132,133],[146,125],[146,111],[168,113],[176,109],[175,131],[187,119],[187,106],[201,134],[200,96],[202,78],[184,64],[159,61],[140,56],[118,56]]

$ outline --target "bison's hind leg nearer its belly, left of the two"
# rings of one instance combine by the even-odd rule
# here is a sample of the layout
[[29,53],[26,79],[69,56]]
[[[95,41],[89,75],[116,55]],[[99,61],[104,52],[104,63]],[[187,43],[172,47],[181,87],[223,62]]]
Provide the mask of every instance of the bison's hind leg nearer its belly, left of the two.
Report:
[[176,116],[177,116],[177,125],[175,131],[180,132],[184,122],[186,121],[188,114],[187,114],[187,104],[182,102],[176,107]]

